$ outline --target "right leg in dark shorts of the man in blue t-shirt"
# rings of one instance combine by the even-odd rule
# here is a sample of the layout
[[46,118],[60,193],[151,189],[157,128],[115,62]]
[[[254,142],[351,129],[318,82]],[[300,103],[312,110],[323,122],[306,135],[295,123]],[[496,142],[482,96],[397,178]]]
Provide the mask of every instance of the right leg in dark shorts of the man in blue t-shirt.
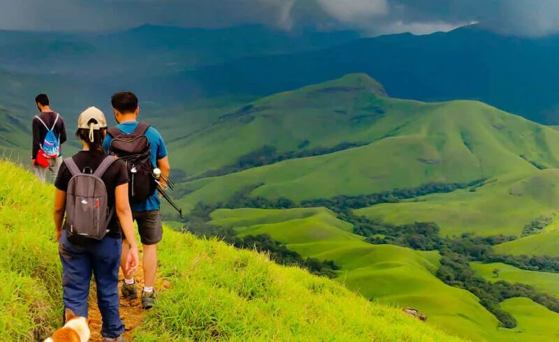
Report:
[[163,239],[163,225],[159,210],[152,210],[138,216],[138,231],[144,247],[144,283],[153,288],[157,273],[157,244]]

